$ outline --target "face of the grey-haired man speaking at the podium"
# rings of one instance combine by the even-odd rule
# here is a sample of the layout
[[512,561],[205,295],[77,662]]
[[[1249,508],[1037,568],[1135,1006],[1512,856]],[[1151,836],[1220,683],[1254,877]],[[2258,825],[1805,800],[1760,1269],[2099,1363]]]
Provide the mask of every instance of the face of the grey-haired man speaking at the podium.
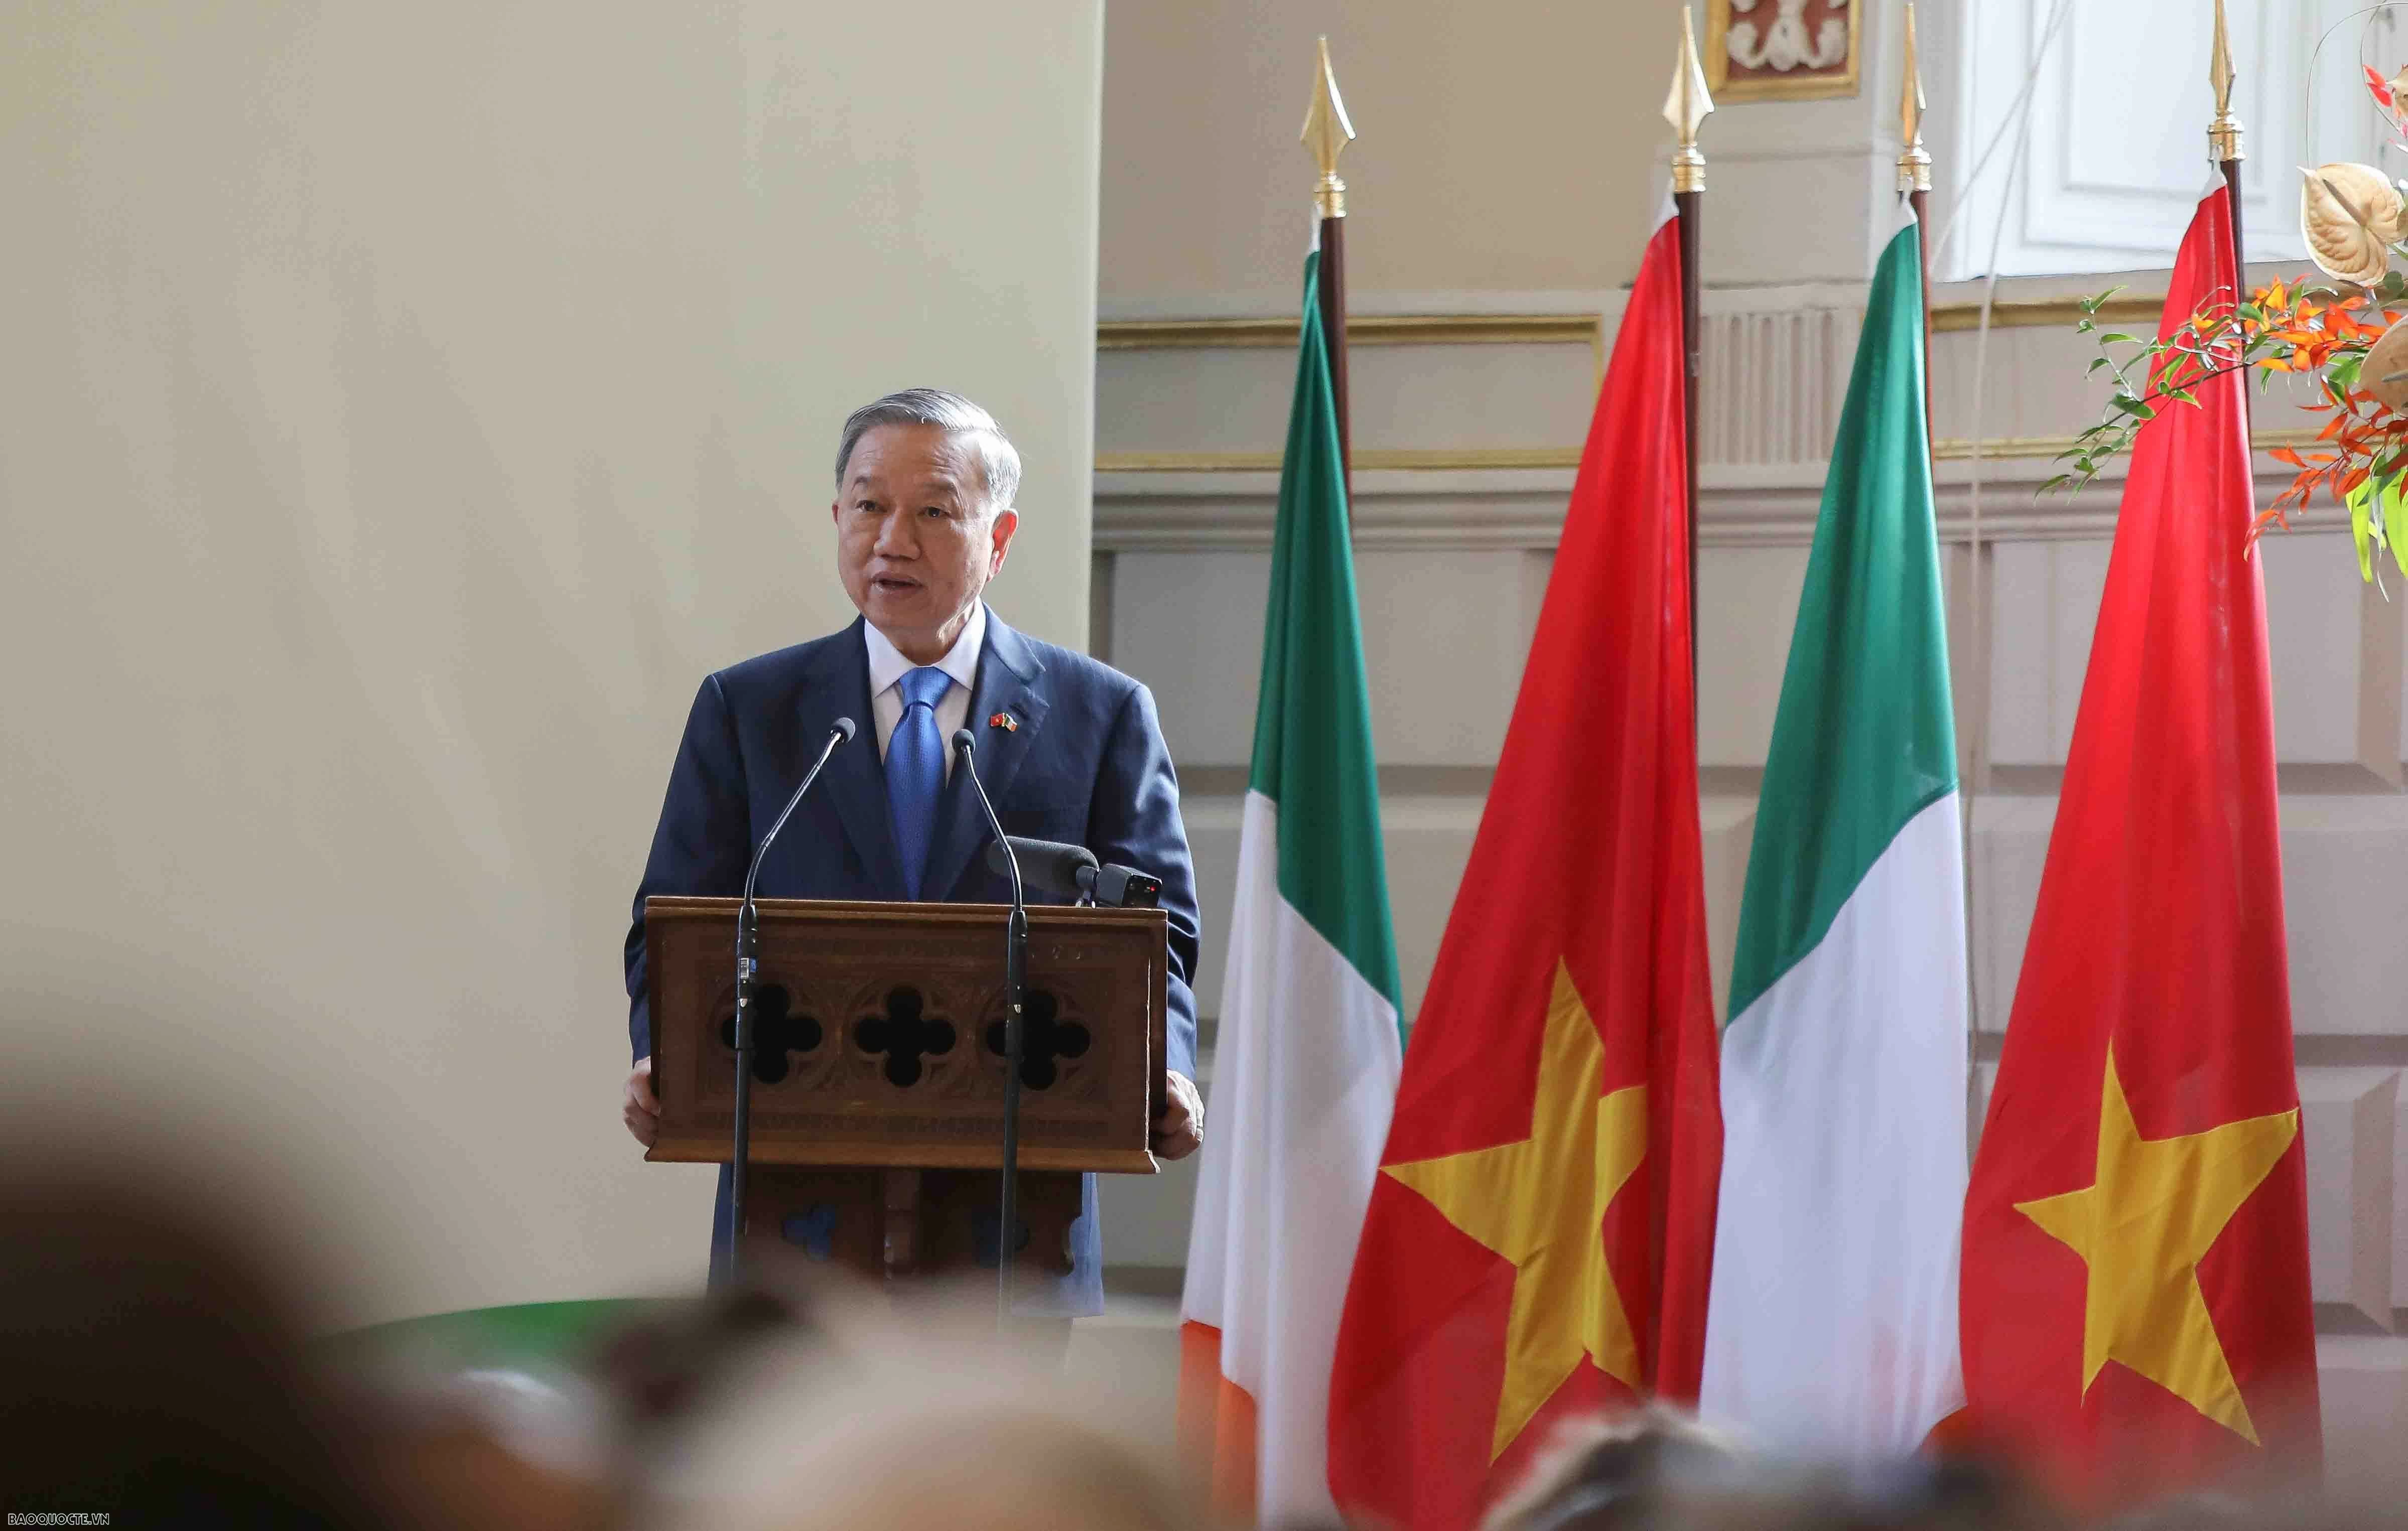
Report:
[[917,664],[961,636],[1021,525],[987,510],[978,453],[942,426],[864,431],[833,510],[845,595]]

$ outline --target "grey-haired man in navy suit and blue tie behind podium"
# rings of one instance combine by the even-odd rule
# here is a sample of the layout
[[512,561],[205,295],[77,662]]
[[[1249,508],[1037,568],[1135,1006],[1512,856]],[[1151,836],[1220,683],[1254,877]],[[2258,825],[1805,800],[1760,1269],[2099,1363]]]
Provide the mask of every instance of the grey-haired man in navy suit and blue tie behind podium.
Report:
[[[978,734],[978,773],[1004,833],[1086,845],[1103,862],[1163,879],[1170,915],[1168,1083],[1156,1153],[1204,1141],[1194,1086],[1197,893],[1180,787],[1153,696],[1108,664],[1026,638],[980,595],[1004,566],[1021,460],[978,404],[913,388],[855,409],[836,453],[836,561],[862,616],[850,628],[703,679],[669,768],[653,857],[626,936],[626,1127],[653,1143],[653,1018],[643,973],[643,900],[737,895],[751,847],[795,792],[838,717],[869,739],[828,758],[811,797],[761,864],[763,898],[925,898],[1007,903],[987,869],[985,816],[954,780],[954,729]],[[727,1187],[713,1269],[727,1249]],[[1072,1225],[1072,1273],[1021,1288],[1028,1314],[1103,1310],[1096,1177]]]

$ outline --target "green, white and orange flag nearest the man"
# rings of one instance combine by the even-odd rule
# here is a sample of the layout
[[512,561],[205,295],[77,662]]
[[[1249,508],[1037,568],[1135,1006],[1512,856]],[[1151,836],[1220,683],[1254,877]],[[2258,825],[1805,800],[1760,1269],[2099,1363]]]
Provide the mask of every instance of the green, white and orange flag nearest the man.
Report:
[[1180,1435],[1233,1519],[1336,1521],[1329,1355],[1397,1095],[1397,944],[1329,347],[1305,260],[1255,763],[1187,1245]]

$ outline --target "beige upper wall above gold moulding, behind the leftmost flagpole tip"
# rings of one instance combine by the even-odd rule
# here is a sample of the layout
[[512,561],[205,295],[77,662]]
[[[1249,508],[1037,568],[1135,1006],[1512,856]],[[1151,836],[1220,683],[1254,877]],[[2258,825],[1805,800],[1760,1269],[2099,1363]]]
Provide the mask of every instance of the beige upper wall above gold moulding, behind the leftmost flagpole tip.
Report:
[[1293,306],[1315,34],[1361,132],[1339,164],[1358,306],[1623,284],[1654,217],[1678,26],[1676,0],[1117,5],[1103,308]]

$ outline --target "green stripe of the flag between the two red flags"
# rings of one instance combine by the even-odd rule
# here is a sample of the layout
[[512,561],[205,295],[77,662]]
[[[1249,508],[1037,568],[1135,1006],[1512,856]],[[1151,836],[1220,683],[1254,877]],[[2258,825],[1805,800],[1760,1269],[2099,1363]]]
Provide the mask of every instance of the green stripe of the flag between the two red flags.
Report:
[[1830,457],[1755,806],[1731,1021],[1823,941],[1898,830],[1958,785],[1914,224],[1873,272]]

